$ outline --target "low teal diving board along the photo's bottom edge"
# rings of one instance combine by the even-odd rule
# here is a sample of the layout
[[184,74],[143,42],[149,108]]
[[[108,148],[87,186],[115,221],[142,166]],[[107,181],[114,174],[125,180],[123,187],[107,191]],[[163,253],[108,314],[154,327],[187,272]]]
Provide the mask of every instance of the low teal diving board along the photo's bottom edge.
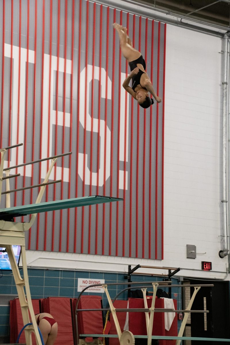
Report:
[[[94,337],[94,338],[118,338],[117,334],[80,334],[80,337]],[[148,338],[148,335],[134,335],[134,338]],[[224,338],[201,338],[201,337],[171,337],[164,335],[152,335],[152,339],[158,340],[197,340],[197,341],[212,341],[212,342],[230,342],[230,339]]]

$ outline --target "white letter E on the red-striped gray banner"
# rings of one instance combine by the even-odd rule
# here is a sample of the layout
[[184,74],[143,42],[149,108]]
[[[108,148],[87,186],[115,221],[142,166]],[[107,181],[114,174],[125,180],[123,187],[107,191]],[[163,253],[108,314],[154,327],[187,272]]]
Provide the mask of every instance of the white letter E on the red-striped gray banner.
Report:
[[[42,157],[51,157],[52,156],[52,132],[53,125],[63,126],[63,111],[58,111],[58,123],[56,124],[56,110],[53,108],[53,95],[54,88],[56,85],[53,85],[54,71],[57,71],[57,56],[51,57],[51,87],[50,87],[50,142],[48,147],[48,120],[49,120],[49,68],[50,68],[50,56],[44,54],[44,73],[43,73],[43,122],[42,122]],[[59,58],[59,72],[64,73],[64,62],[63,58]],[[66,60],[66,73],[71,74],[71,60]],[[57,81],[57,79],[56,79]],[[62,88],[61,88],[62,89]],[[57,97],[57,95],[56,95]],[[63,101],[63,100],[62,100]],[[70,113],[65,112],[65,127],[70,127]],[[47,151],[48,147],[48,151]],[[62,152],[57,152],[61,154]],[[53,152],[54,154],[54,152]],[[56,167],[56,179],[61,179],[61,171],[63,171],[63,181],[69,181],[69,168]],[[42,162],[41,166],[41,177],[45,178],[47,173],[47,161]],[[50,179],[54,180],[54,169],[50,175]]]

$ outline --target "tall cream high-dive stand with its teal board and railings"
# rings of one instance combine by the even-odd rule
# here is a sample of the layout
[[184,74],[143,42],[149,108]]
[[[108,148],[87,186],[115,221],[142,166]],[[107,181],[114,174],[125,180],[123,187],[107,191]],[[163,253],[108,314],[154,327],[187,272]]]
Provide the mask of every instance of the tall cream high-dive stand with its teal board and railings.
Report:
[[[31,332],[33,332],[35,334],[37,345],[42,345],[41,338],[38,332],[38,326],[37,326],[36,319],[33,312],[33,306],[32,306],[31,295],[30,295],[30,287],[29,287],[29,279],[28,279],[27,263],[26,263],[25,231],[31,228],[31,226],[34,223],[34,220],[36,219],[37,213],[60,210],[64,208],[110,203],[112,201],[121,201],[123,199],[95,195],[95,196],[88,196],[88,197],[82,197],[82,198],[57,200],[57,201],[41,203],[41,199],[46,189],[46,186],[49,184],[61,182],[61,180],[48,182],[52,168],[54,164],[56,163],[58,157],[71,155],[72,152],[68,152],[66,154],[61,154],[61,155],[57,155],[53,157],[42,158],[33,162],[23,163],[20,165],[3,169],[4,158],[5,158],[7,150],[21,146],[21,145],[22,144],[17,144],[17,145],[0,149],[0,153],[1,153],[0,201],[1,201],[2,194],[6,194],[6,208],[0,209],[0,247],[6,248],[6,251],[9,257],[14,281],[16,284],[17,292],[18,292],[24,325],[30,323],[29,312],[31,315],[32,325],[29,325],[25,328],[26,344],[32,345]],[[17,172],[17,168],[19,167],[29,165],[29,164],[35,164],[44,160],[51,160],[51,163],[50,163],[49,169],[47,171],[47,175],[44,178],[43,183],[39,185],[10,190],[10,184],[9,184],[10,178],[20,176],[20,174],[17,174],[17,173],[14,175],[10,175],[11,169],[16,169],[16,172]],[[3,176],[3,174],[5,174],[6,176]],[[6,180],[6,191],[2,193],[2,183],[4,180]],[[29,188],[35,188],[35,187],[41,187],[35,204],[10,207],[10,193],[29,189]],[[21,217],[25,215],[31,215],[29,222],[13,221],[14,217]],[[13,253],[12,245],[21,246],[23,278],[20,275],[20,272],[16,263],[16,259]],[[24,287],[25,287],[25,290],[24,290]]]

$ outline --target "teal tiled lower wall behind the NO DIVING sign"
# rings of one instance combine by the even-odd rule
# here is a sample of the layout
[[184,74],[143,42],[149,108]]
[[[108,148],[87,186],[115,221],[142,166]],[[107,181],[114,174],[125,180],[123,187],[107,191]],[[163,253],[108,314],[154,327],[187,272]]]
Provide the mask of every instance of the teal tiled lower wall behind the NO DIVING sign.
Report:
[[[20,270],[22,274],[22,269]],[[57,270],[57,269],[28,269],[30,293],[32,298],[46,298],[46,297],[70,297],[75,298],[79,296],[78,278],[91,278],[91,279],[104,279],[105,283],[120,283],[127,282],[124,279],[126,274],[122,273],[103,273],[103,272],[83,272],[71,270]],[[133,281],[137,282],[150,282],[156,281],[157,277],[149,277],[144,275],[133,275]],[[158,278],[159,280],[159,278]],[[161,280],[161,278],[160,278]],[[177,279],[173,279],[172,283],[177,284]],[[109,287],[111,298],[114,298],[125,285],[113,285]],[[172,289],[172,298],[178,301],[178,309],[181,308],[181,292],[180,288]],[[177,297],[174,297],[177,293]],[[0,277],[0,294],[17,295],[16,286],[12,276],[12,272],[4,272]],[[95,293],[84,293],[95,294]],[[102,297],[104,307],[108,307],[106,294],[97,294]],[[127,299],[128,292],[123,292],[119,295],[118,299]],[[9,334],[9,306],[0,306],[0,336]]]

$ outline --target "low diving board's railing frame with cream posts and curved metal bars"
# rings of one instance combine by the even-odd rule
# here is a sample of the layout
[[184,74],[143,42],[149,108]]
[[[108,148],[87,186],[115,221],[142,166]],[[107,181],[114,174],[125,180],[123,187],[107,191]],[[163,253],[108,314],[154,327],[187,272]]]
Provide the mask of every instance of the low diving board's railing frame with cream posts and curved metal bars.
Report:
[[[85,287],[80,295],[78,296],[78,301],[76,305],[76,339],[75,339],[75,344],[77,345],[86,345],[87,343],[84,341],[84,339],[81,338],[86,338],[86,337],[93,337],[93,338],[99,338],[99,337],[118,337],[120,345],[132,345],[134,344],[134,338],[147,338],[147,345],[151,345],[152,339],[165,339],[165,340],[176,340],[176,345],[180,345],[181,340],[197,340],[197,341],[221,341],[221,342],[230,342],[230,339],[219,339],[219,338],[196,338],[196,337],[183,337],[183,332],[186,326],[186,322],[189,316],[189,313],[208,313],[209,311],[207,310],[191,310],[194,298],[196,297],[196,294],[198,293],[199,289],[201,287],[212,287],[214,286],[213,284],[201,284],[201,285],[196,285],[196,284],[186,284],[186,285],[181,285],[181,284],[170,284],[170,287],[194,287],[194,291],[192,294],[192,297],[190,299],[190,302],[187,306],[186,309],[184,310],[174,310],[174,309],[166,309],[166,308],[155,308],[155,300],[156,300],[156,293],[158,287],[166,287],[166,284],[169,284],[170,282],[163,281],[163,282],[126,282],[126,283],[110,283],[110,284],[93,284]],[[144,286],[140,286],[140,284],[145,284]],[[127,288],[124,288],[121,290],[114,298],[111,300],[109,291],[108,291],[108,286],[111,285],[132,285],[128,286]],[[151,307],[147,307],[147,298],[146,298],[146,290],[148,285],[152,285],[153,287],[153,297],[152,297],[152,302],[151,302]],[[104,292],[106,293],[108,302],[109,302],[109,308],[101,308],[101,309],[78,309],[78,304],[79,300],[83,294],[88,288],[94,287],[94,286],[101,286],[104,289]],[[136,288],[141,288],[142,293],[143,293],[143,299],[144,299],[144,308],[115,308],[113,306],[114,301],[117,299],[117,297],[122,294],[126,290],[130,289],[136,289]],[[113,320],[115,323],[117,335],[101,335],[101,334],[79,334],[78,333],[78,312],[84,312],[84,311],[107,311],[111,312],[113,316]],[[116,312],[144,312],[146,315],[146,331],[147,335],[133,335],[130,331],[123,331],[121,332],[121,328],[118,322],[118,318],[116,315]],[[184,313],[183,321],[181,323],[181,327],[178,333],[177,337],[173,336],[153,336],[152,335],[152,329],[153,329],[153,317],[155,312],[167,312],[167,313]],[[107,317],[108,319],[108,317]],[[106,319],[106,322],[107,322]]]

